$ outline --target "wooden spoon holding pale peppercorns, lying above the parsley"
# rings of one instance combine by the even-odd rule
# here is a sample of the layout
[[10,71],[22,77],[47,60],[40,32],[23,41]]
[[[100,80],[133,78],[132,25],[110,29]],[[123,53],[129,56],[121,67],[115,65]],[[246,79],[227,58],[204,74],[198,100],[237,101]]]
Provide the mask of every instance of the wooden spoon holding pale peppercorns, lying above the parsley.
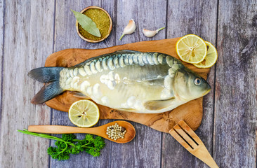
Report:
[[[117,139],[116,141],[114,141],[114,139],[108,138],[106,134],[107,127],[114,125],[115,123],[117,123],[119,126],[124,127],[126,129],[124,139]],[[102,125],[100,127],[91,127],[91,128],[69,127],[69,126],[61,126],[61,125],[29,125],[28,130],[29,132],[48,133],[48,134],[73,134],[73,133],[95,134],[119,144],[124,144],[131,141],[136,135],[136,130],[133,127],[133,125],[123,120],[117,120],[112,123],[107,123],[106,125]]]

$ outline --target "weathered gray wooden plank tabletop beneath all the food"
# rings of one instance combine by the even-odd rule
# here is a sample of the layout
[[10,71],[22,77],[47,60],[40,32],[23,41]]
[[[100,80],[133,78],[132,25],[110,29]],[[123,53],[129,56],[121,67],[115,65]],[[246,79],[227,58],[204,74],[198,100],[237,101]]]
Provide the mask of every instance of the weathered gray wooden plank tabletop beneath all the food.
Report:
[[[113,20],[112,34],[102,43],[77,35],[70,11],[100,6]],[[136,138],[128,144],[106,141],[100,157],[81,153],[70,160],[51,159],[54,141],[20,134],[28,125],[72,125],[67,113],[30,100],[42,87],[27,76],[44,66],[46,57],[66,48],[113,45],[197,34],[218,49],[218,62],[204,97],[204,118],[197,135],[220,167],[256,167],[257,1],[0,1],[0,167],[207,167],[169,134],[132,123]],[[119,37],[129,20],[136,33]],[[142,29],[166,27],[154,38]],[[154,47],[154,46],[153,46]],[[111,120],[100,120],[103,125]],[[82,138],[83,135],[78,135]]]

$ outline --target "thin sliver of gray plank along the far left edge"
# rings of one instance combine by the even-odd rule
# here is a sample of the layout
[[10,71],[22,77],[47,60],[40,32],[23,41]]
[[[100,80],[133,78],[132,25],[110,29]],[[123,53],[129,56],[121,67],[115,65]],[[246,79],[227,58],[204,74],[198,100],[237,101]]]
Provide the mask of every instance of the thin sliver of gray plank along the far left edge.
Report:
[[[5,6],[5,1],[1,0],[0,1],[0,15],[2,15],[3,17],[0,18],[0,53],[1,55],[4,55],[4,6]],[[0,125],[1,125],[1,118],[2,118],[2,61],[3,61],[3,57],[0,58],[0,69],[1,69],[1,73],[0,73]],[[0,127],[0,132],[1,132],[1,127]],[[0,141],[0,145],[1,145],[1,141]]]

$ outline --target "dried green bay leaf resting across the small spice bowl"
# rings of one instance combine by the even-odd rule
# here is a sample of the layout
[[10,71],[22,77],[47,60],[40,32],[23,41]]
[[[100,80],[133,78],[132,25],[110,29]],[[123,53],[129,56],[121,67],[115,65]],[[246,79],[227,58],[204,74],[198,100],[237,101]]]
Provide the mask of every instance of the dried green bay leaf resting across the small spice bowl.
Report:
[[92,34],[93,36],[101,37],[98,27],[96,27],[95,22],[93,22],[91,18],[88,18],[88,16],[84,15],[83,13],[79,13],[74,10],[72,10],[72,12],[83,29],[88,31],[88,33]]

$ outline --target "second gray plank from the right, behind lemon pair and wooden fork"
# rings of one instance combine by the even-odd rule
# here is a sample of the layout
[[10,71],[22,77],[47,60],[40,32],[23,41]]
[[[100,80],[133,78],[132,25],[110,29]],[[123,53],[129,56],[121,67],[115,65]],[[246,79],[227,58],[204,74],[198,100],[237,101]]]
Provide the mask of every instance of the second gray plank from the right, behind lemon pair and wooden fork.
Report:
[[[197,34],[216,44],[217,1],[169,1],[167,15],[167,38]],[[202,125],[196,134],[212,152],[213,93],[215,66],[211,67],[208,82],[211,92],[204,97]],[[208,167],[183,148],[170,134],[164,134],[162,167]]]

